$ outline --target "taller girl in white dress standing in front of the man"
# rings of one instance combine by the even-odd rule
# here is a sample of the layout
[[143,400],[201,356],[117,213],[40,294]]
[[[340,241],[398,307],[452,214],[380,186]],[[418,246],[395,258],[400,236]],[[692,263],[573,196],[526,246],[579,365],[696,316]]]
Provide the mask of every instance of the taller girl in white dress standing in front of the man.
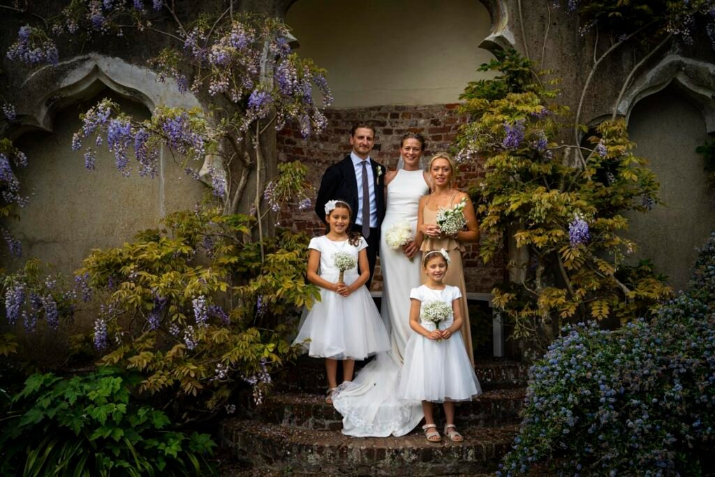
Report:
[[[340,200],[325,204],[327,232],[310,240],[307,277],[319,286],[316,302],[300,325],[294,344],[314,358],[325,358],[327,403],[337,388],[337,361],[343,380],[352,380],[355,360],[390,349],[388,332],[365,282],[370,277],[368,247],[350,230],[350,206]],[[358,267],[360,273],[358,274]],[[310,343],[305,341],[310,339]]]

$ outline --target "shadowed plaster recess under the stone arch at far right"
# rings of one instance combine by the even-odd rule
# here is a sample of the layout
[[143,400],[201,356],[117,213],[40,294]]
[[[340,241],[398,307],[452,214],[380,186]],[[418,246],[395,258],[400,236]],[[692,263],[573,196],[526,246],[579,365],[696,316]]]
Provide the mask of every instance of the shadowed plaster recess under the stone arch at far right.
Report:
[[651,161],[661,200],[647,214],[628,215],[627,236],[638,243],[633,262],[649,258],[684,289],[699,247],[715,230],[715,191],[707,184],[704,159],[695,152],[708,139],[699,109],[675,87],[645,97],[628,122],[636,154]]

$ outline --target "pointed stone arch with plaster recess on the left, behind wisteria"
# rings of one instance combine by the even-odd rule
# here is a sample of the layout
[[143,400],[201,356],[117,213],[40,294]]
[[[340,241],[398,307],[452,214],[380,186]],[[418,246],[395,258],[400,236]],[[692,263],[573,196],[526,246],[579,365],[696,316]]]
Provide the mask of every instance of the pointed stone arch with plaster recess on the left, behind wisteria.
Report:
[[81,127],[79,113],[104,97],[138,119],[149,117],[157,104],[200,107],[174,82],[156,79],[149,69],[97,54],[29,76],[16,102],[21,124],[11,134],[29,157],[19,179],[24,190],[34,191],[19,220],[7,224],[23,245],[20,260],[38,257],[71,273],[92,248],[122,245],[139,230],[158,227],[167,213],[201,200],[204,185],[184,174],[166,149],[154,179],[122,177],[106,148],[98,148],[97,170],[89,172],[82,153],[71,150],[71,136]]

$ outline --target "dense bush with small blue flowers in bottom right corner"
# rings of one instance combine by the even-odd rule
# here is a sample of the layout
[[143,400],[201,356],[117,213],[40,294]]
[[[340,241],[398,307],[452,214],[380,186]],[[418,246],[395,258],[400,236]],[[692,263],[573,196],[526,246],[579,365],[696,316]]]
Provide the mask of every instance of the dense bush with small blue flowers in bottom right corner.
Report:
[[699,476],[715,434],[715,234],[690,291],[615,331],[568,325],[531,368],[502,475]]

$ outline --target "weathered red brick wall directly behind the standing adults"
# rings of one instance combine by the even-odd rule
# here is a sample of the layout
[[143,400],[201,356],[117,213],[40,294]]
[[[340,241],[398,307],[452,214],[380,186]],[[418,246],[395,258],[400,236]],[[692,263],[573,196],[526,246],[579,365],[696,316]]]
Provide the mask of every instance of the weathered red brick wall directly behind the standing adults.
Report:
[[[328,109],[328,126],[318,137],[302,139],[300,131],[288,126],[278,133],[277,147],[280,161],[299,159],[310,164],[308,180],[317,188],[325,169],[350,152],[350,127],[354,122],[370,121],[375,125],[375,148],[370,154],[389,169],[397,165],[400,138],[405,132],[419,132],[427,140],[425,157],[440,150],[448,150],[456,137],[460,124],[466,117],[458,113],[458,104],[433,106],[378,106],[351,109]],[[481,174],[478,164],[460,167],[459,187],[464,188]],[[322,235],[322,222],[311,210],[295,208],[284,210],[280,225],[295,227],[309,235]],[[498,257],[485,266],[478,257],[477,247],[468,247],[465,253],[465,280],[470,292],[489,292],[493,285],[503,280],[504,260]],[[375,270],[373,290],[382,288],[379,269]]]

